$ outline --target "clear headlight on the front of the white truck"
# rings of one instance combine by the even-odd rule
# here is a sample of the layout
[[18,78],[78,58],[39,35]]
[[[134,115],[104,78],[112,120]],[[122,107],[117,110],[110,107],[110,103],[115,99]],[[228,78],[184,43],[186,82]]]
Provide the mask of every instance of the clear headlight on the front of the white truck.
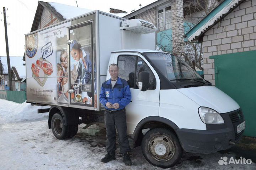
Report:
[[205,124],[224,124],[222,116],[213,109],[200,107],[198,113]]

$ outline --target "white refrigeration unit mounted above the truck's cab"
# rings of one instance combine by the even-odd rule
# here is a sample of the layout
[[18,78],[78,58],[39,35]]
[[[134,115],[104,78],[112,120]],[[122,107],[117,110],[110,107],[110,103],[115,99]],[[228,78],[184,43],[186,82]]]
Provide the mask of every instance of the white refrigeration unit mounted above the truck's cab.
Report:
[[157,30],[154,24],[140,19],[122,21],[120,29],[139,34],[147,34]]

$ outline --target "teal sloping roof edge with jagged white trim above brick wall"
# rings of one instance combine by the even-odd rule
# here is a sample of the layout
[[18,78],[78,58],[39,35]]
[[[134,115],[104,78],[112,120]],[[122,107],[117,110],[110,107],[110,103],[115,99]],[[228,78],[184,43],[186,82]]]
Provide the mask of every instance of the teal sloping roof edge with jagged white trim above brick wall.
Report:
[[206,17],[187,32],[184,37],[190,42],[197,39],[243,1],[244,0],[223,0],[210,13],[208,13]]

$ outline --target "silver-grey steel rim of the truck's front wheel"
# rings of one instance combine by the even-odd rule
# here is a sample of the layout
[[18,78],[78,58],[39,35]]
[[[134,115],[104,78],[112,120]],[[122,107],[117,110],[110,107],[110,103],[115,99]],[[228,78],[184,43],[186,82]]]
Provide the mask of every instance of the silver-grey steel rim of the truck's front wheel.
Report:
[[174,143],[165,135],[156,135],[151,138],[149,150],[157,161],[169,161],[175,154]]

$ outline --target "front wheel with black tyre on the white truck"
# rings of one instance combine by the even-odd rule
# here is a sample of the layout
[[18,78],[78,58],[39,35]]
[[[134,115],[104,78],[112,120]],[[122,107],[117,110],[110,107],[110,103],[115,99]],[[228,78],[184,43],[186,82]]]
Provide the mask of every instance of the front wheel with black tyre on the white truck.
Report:
[[172,131],[154,128],[142,139],[142,153],[152,165],[169,168],[181,159],[183,149]]

